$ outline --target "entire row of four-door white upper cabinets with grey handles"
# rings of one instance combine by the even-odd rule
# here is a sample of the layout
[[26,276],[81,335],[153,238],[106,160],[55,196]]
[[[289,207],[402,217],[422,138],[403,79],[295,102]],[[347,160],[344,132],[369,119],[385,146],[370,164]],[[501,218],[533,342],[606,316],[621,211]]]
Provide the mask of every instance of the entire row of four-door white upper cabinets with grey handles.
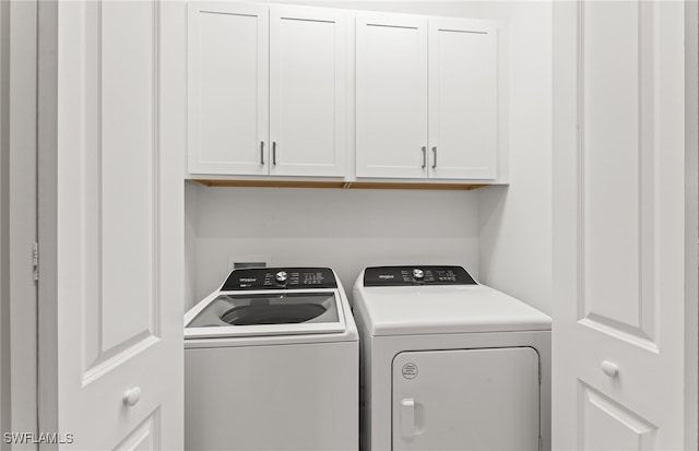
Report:
[[187,39],[192,178],[498,181],[494,22],[191,2]]

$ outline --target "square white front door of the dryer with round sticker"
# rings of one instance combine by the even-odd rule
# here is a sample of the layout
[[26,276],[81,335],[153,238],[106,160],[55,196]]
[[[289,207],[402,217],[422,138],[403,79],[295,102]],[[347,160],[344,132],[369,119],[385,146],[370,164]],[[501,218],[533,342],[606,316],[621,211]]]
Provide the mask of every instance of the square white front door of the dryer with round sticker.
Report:
[[538,450],[531,347],[420,351],[393,359],[393,450]]

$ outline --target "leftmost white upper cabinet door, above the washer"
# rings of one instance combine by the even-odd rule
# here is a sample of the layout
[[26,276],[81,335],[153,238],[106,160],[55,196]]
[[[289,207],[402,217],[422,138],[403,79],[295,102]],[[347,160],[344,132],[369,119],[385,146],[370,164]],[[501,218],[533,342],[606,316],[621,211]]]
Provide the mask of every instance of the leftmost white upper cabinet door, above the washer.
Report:
[[268,22],[266,7],[189,4],[190,173],[268,174]]

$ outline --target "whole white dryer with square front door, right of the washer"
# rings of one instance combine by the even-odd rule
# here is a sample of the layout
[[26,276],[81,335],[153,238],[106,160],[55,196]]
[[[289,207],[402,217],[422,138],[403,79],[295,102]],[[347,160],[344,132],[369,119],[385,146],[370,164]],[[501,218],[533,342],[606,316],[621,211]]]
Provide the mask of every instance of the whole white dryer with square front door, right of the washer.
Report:
[[461,266],[365,269],[363,449],[550,450],[550,318]]

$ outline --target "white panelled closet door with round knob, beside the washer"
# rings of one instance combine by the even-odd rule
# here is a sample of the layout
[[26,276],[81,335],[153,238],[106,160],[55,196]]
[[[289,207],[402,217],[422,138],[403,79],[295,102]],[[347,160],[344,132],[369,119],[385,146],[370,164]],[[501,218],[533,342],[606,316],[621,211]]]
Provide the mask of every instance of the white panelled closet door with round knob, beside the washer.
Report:
[[158,3],[58,3],[61,449],[182,448],[185,8]]

